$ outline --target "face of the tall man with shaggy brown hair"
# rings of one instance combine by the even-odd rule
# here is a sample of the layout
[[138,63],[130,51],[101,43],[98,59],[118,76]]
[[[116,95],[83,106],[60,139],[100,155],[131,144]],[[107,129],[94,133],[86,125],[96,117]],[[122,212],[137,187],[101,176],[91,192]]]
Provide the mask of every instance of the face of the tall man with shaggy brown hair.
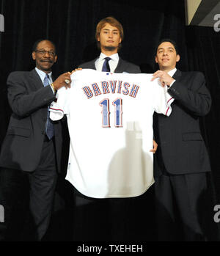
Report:
[[101,29],[97,40],[100,42],[101,49],[117,49],[119,44],[122,42],[120,32],[117,27],[111,26],[109,23],[106,23],[103,29]]

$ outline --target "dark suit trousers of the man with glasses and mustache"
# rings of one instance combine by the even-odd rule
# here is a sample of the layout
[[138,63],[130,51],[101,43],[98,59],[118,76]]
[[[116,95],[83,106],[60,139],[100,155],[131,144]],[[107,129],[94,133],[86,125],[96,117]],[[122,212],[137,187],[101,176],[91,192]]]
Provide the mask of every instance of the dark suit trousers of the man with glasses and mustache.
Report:
[[56,187],[54,141],[43,142],[40,163],[34,172],[0,170],[0,241],[41,241],[51,219]]

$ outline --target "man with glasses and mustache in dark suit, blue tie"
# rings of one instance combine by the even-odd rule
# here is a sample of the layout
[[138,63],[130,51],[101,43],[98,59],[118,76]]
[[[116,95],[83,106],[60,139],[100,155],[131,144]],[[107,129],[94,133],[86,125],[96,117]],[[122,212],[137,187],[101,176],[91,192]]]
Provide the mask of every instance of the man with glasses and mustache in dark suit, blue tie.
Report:
[[48,118],[48,106],[55,100],[56,89],[70,83],[70,73],[53,82],[51,67],[57,55],[50,40],[34,43],[32,59],[34,70],[12,72],[7,78],[12,115],[0,155],[0,204],[5,210],[2,240],[22,239],[26,200],[33,222],[31,239],[42,240],[60,170],[62,127]]

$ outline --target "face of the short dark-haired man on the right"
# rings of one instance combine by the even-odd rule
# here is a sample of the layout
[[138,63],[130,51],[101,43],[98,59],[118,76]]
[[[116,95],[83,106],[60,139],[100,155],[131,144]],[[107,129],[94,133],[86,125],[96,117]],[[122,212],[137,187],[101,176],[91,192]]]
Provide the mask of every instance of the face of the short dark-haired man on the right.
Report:
[[170,42],[161,43],[158,46],[155,62],[158,63],[160,70],[172,70],[176,66],[176,62],[180,60],[174,45]]

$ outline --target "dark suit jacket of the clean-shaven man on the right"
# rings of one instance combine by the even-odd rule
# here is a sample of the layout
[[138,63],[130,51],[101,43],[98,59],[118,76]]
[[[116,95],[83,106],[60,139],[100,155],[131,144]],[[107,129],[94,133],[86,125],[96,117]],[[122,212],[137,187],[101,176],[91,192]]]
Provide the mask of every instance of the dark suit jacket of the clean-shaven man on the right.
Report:
[[199,72],[177,70],[168,89],[175,98],[169,117],[155,114],[155,176],[165,167],[170,174],[210,172],[210,161],[199,128],[199,117],[210,111],[211,97]]

